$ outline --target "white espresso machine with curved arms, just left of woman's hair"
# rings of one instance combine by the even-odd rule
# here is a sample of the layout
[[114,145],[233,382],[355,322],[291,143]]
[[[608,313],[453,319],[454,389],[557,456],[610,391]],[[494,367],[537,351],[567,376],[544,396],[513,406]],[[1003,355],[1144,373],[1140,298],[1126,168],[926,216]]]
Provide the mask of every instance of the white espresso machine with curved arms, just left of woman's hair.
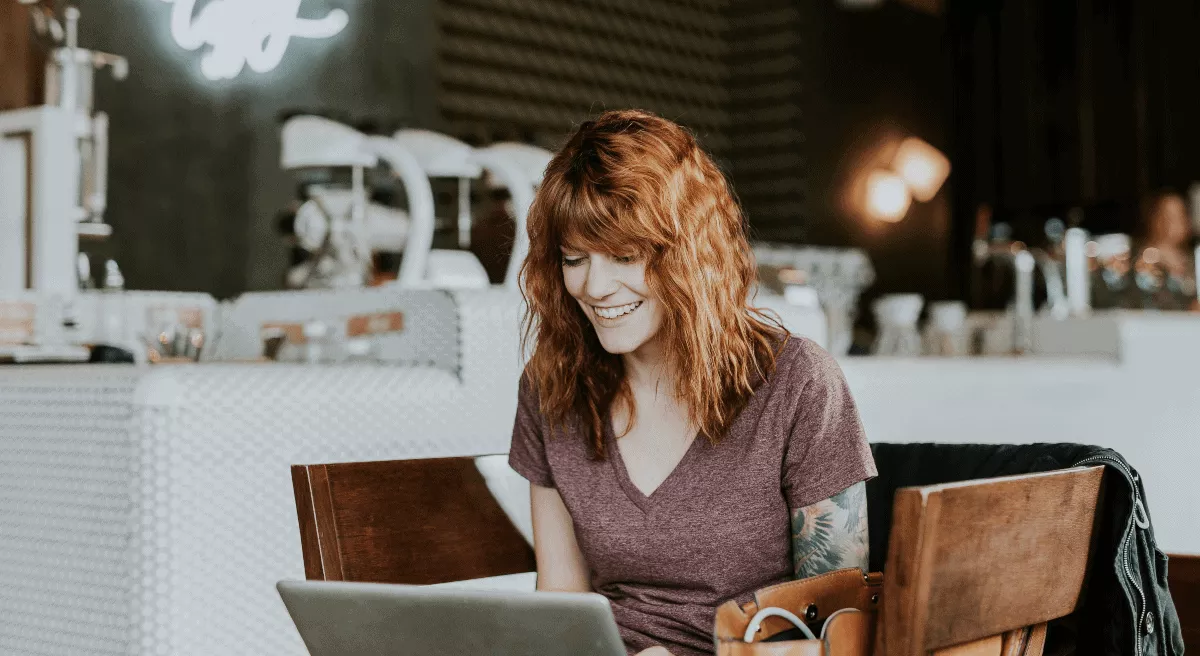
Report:
[[[428,130],[367,136],[331,119],[300,115],[282,128],[281,164],[302,180],[301,203],[286,216],[284,233],[305,253],[288,273],[298,289],[362,287],[378,253],[401,253],[395,284],[406,289],[488,287],[487,273],[469,247],[469,185],[485,176],[506,187],[516,240],[504,287],[516,290],[528,253],[526,217],[553,154],[527,144],[498,143],[475,149]],[[389,182],[403,187],[406,209],[372,201],[370,180],[385,164]],[[431,181],[458,181],[454,222],[461,248],[433,248],[438,227]]]

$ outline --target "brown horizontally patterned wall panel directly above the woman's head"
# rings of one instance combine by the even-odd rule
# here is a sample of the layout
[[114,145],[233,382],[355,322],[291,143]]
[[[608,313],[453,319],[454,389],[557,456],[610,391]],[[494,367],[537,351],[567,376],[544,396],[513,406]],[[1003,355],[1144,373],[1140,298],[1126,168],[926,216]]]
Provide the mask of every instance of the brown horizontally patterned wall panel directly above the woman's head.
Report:
[[727,150],[725,0],[438,0],[438,107],[464,139],[554,148],[605,109],[642,108]]

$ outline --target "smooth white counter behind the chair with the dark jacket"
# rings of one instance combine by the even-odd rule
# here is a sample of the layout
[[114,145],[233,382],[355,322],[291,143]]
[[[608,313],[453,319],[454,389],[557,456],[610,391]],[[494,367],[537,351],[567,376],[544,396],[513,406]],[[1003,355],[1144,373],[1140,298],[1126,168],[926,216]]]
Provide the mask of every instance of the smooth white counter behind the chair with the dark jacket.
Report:
[[871,441],[1115,449],[1142,477],[1159,547],[1200,553],[1200,375],[1037,357],[841,365]]

